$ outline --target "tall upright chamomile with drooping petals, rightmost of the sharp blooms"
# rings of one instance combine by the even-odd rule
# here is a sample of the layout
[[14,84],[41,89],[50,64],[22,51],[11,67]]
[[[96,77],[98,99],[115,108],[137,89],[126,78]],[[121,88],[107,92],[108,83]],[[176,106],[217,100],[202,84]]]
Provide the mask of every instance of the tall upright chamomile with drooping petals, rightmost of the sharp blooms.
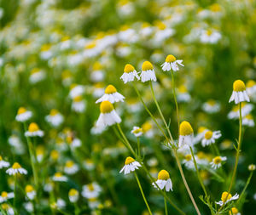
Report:
[[241,80],[236,80],[233,83],[233,92],[229,102],[231,101],[235,101],[236,104],[241,103],[243,101],[250,101],[247,95],[245,84]]

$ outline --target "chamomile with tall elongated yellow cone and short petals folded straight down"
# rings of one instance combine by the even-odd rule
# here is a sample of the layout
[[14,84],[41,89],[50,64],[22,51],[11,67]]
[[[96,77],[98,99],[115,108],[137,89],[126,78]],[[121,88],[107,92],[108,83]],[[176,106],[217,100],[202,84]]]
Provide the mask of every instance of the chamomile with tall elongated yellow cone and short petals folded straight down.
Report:
[[189,122],[183,121],[179,127],[179,139],[178,147],[183,146],[183,144],[188,144],[192,146],[194,137],[194,131]]

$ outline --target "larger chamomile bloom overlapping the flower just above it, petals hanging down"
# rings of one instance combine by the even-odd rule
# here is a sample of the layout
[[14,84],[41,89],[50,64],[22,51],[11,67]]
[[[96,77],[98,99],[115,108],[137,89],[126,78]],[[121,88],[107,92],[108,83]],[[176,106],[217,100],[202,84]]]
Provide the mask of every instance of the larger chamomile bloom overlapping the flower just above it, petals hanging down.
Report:
[[121,118],[113,109],[113,105],[109,101],[102,101],[100,110],[101,114],[96,122],[96,127],[107,127],[121,122]]

